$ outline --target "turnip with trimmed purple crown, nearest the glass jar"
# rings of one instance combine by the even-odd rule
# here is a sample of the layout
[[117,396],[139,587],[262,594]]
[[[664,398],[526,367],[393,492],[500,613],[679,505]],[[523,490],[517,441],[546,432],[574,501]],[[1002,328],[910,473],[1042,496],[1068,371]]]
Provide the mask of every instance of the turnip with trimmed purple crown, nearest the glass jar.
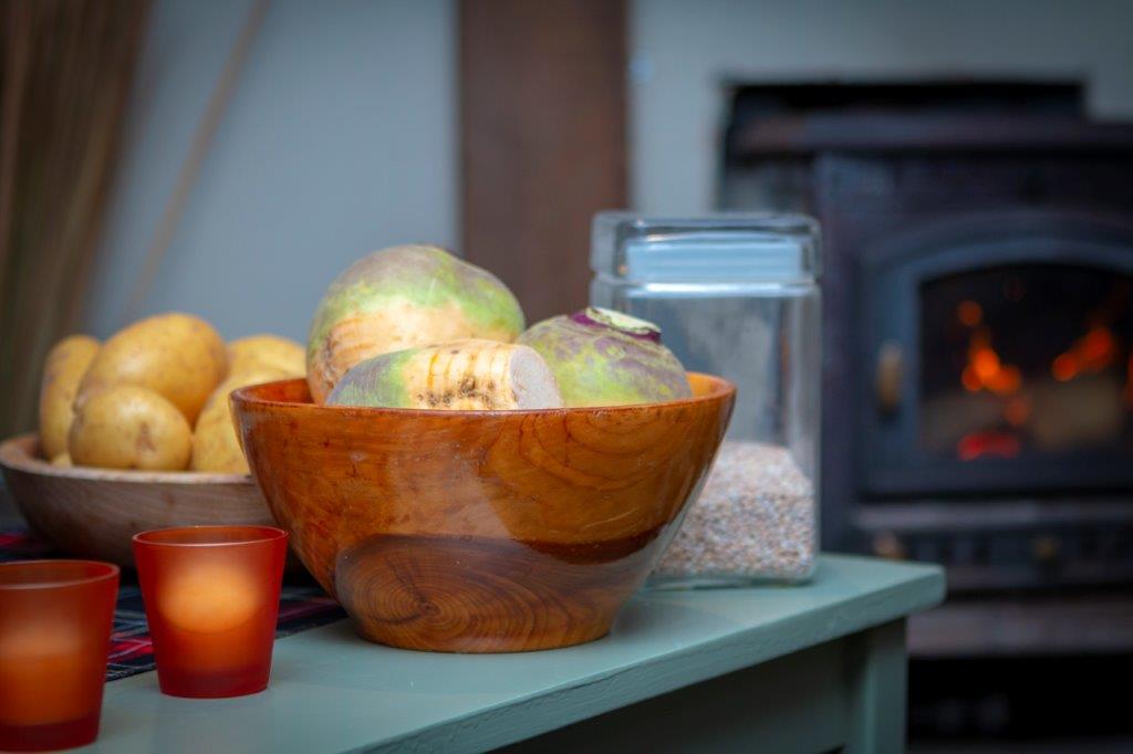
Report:
[[568,406],[690,397],[684,368],[650,322],[589,307],[545,319],[519,336],[546,360]]

